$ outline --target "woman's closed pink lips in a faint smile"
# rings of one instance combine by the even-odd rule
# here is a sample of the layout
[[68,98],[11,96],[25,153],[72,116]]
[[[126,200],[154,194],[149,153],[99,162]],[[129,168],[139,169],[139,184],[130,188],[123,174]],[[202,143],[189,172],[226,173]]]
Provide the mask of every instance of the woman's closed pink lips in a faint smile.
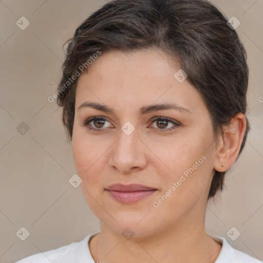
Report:
[[134,204],[153,195],[158,190],[142,184],[112,184],[105,189],[116,201],[123,204]]

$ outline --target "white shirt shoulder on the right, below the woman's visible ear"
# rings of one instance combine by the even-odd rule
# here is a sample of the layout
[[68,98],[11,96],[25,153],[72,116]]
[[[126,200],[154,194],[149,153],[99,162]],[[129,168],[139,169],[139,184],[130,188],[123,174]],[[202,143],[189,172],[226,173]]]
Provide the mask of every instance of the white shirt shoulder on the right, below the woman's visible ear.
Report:
[[225,238],[212,234],[209,235],[222,245],[215,263],[262,263],[262,261],[231,247]]

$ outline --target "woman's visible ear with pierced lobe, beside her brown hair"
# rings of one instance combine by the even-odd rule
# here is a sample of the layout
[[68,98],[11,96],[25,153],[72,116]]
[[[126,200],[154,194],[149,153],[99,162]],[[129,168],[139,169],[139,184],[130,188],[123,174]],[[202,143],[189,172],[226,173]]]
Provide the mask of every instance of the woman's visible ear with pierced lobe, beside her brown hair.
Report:
[[247,122],[245,115],[238,113],[229,125],[223,126],[223,135],[219,138],[216,149],[214,169],[226,172],[235,162],[243,137],[246,132]]

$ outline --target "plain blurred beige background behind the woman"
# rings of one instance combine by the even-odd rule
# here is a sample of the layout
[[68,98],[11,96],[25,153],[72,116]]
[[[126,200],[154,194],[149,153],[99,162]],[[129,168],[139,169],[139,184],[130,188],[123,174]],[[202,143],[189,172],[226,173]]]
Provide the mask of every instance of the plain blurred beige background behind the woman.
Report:
[[[248,52],[249,120],[252,131],[240,159],[227,176],[221,198],[210,203],[206,230],[225,237],[236,249],[263,260],[263,89],[261,0],[214,0],[236,29]],[[48,102],[64,60],[63,43],[104,0],[0,2],[0,262],[55,249],[99,231],[80,190],[69,184],[76,173],[61,111]],[[16,21],[30,25],[21,30]],[[29,130],[16,127],[25,122]],[[22,124],[23,125],[23,124]],[[22,241],[16,232],[25,227]],[[227,232],[241,235],[232,241]]]

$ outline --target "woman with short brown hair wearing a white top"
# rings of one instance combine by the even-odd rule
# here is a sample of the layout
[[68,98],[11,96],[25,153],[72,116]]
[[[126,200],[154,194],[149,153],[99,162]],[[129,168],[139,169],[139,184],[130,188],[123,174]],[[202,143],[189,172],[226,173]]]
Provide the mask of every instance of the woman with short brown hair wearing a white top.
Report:
[[115,0],[77,28],[58,104],[101,232],[18,262],[260,262],[204,228],[250,129],[232,24],[204,0]]

